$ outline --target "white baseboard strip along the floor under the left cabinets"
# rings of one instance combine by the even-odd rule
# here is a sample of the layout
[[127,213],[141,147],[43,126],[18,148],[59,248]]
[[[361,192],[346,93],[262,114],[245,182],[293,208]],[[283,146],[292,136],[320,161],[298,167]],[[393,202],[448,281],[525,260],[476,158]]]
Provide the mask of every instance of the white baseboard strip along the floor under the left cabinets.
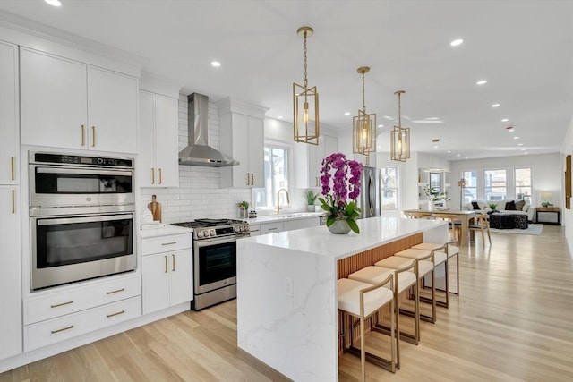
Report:
[[58,344],[52,344],[30,352],[22,352],[21,354],[14,355],[13,357],[7,358],[5,360],[1,360],[0,373],[19,368],[31,362],[43,360],[47,357],[51,357],[61,352],[67,352],[68,350],[75,349],[76,347],[83,346],[84,344],[91,344],[93,342],[99,341],[109,336],[117,335],[119,333],[125,332],[135,327],[141,327],[153,321],[157,321],[158,319],[167,318],[169,316],[173,316],[177,313],[181,313],[182,311],[190,309],[191,309],[190,302],[184,302],[182,304],[175,305],[166,310],[159,310],[150,314],[146,314],[145,316],[133,318],[132,320],[119,323],[112,327],[106,327],[104,329],[100,329],[95,332],[70,338],[69,340],[63,341]]

